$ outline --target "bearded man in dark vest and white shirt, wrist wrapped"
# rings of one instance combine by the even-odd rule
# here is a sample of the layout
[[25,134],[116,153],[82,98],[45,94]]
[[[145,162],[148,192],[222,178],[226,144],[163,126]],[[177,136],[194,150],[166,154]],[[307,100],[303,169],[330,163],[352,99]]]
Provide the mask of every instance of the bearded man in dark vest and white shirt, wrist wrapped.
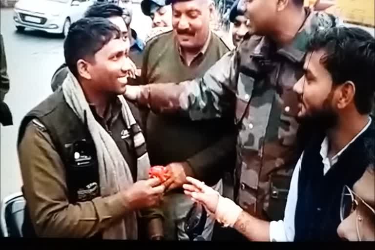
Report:
[[[374,240],[374,37],[360,28],[335,27],[315,34],[308,51],[293,90],[298,119],[314,130],[293,171],[284,219],[259,220],[195,179],[184,188],[252,241]],[[351,199],[354,189],[373,207]],[[356,209],[354,199],[360,207],[341,223]]]

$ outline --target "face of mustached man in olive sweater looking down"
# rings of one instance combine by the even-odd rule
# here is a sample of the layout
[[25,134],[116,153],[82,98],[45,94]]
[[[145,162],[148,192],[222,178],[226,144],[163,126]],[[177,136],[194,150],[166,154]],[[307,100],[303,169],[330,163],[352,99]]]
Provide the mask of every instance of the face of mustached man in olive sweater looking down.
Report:
[[191,0],[172,4],[172,26],[180,46],[185,49],[203,47],[209,31],[213,5],[209,0]]

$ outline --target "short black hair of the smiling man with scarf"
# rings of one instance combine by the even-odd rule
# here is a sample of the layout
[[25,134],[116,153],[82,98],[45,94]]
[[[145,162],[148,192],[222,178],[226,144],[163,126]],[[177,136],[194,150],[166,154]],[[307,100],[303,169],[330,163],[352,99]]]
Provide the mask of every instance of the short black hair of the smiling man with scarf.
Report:
[[83,18],[72,23],[64,41],[64,57],[68,68],[78,77],[78,60],[93,60],[95,53],[105,44],[120,37],[117,25],[105,18]]

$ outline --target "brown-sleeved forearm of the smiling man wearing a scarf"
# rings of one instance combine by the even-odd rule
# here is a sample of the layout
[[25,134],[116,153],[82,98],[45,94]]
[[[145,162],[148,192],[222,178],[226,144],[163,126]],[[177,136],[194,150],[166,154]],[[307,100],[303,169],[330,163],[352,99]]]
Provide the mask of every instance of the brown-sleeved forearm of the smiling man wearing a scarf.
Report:
[[130,210],[119,193],[76,204],[42,202],[33,204],[30,212],[39,237],[88,238],[119,222]]

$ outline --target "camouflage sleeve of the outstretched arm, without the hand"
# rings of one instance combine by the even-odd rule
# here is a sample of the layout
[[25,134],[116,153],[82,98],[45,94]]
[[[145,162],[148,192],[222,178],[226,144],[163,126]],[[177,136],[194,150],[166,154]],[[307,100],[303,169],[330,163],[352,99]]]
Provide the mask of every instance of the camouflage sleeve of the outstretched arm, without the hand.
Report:
[[143,86],[137,102],[155,113],[180,111],[192,120],[221,117],[234,104],[237,57],[229,51],[200,79]]

